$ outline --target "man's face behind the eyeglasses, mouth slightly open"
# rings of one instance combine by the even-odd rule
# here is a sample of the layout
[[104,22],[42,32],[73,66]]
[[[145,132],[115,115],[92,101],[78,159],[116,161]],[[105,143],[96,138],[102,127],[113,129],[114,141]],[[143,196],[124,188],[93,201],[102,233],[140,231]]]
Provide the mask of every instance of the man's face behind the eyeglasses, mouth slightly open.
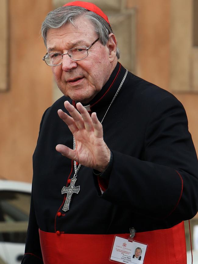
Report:
[[[58,29],[49,29],[47,33],[48,53],[66,53],[74,47],[90,46],[97,38],[91,22],[83,17],[72,24]],[[115,68],[112,47],[103,46],[98,40],[88,50],[88,57],[80,61],[63,55],[61,65],[51,66],[55,81],[65,96],[82,103],[89,102],[107,82]],[[112,67],[114,65],[114,67]]]

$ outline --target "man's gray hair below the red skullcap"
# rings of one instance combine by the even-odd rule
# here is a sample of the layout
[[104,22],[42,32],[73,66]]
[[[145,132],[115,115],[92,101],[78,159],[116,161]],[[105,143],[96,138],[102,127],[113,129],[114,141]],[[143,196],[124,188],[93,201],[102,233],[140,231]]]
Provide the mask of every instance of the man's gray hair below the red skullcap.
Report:
[[[101,16],[80,6],[62,6],[48,13],[41,26],[41,35],[45,46],[48,29],[59,28],[66,23],[74,25],[74,21],[80,16],[84,16],[91,21],[101,44],[105,46],[109,40],[109,34],[113,33],[111,26]],[[116,48],[116,56],[118,59],[120,58],[118,48]]]

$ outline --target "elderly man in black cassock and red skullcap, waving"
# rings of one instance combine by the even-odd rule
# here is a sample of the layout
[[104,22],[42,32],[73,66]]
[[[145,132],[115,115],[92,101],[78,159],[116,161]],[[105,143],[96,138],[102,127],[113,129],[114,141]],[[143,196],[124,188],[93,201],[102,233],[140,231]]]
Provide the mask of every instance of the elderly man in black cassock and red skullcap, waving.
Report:
[[114,236],[130,227],[146,264],[186,263],[198,162],[182,104],[118,62],[108,17],[91,3],[50,12],[42,36],[64,96],[41,120],[22,263],[112,263]]

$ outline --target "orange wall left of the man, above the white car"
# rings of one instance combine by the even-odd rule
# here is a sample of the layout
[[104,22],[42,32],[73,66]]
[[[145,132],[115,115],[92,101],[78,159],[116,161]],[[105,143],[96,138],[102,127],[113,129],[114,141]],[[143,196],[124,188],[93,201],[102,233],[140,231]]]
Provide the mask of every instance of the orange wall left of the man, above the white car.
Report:
[[51,72],[39,31],[51,1],[9,0],[9,91],[0,93],[0,178],[31,181],[42,112],[51,104]]

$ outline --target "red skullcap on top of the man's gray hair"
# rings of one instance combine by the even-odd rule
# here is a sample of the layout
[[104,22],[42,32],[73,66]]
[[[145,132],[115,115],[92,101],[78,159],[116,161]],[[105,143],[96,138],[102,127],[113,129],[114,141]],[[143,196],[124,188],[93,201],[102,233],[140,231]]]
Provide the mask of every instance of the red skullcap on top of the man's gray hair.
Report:
[[86,8],[87,10],[92,11],[96,13],[97,15],[101,16],[110,25],[108,17],[102,12],[102,10],[99,7],[97,7],[93,3],[88,3],[88,2],[83,2],[83,1],[74,1],[74,2],[67,3],[63,6],[67,6],[67,5],[80,6],[80,7]]

